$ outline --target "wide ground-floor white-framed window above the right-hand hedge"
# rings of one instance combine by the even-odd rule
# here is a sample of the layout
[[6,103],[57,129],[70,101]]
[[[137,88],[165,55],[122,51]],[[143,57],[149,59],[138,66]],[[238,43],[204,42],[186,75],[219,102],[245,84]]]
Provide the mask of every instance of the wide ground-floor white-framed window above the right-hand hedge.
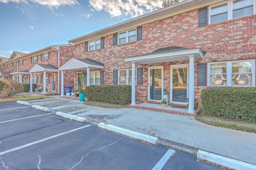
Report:
[[208,86],[255,86],[255,60],[208,63]]

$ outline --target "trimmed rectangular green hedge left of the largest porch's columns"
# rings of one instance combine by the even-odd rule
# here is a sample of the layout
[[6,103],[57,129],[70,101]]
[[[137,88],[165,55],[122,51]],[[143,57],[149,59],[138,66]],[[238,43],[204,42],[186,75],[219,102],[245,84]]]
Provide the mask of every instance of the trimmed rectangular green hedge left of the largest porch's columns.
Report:
[[131,90],[129,85],[91,85],[86,87],[85,97],[91,101],[127,105],[131,103]]

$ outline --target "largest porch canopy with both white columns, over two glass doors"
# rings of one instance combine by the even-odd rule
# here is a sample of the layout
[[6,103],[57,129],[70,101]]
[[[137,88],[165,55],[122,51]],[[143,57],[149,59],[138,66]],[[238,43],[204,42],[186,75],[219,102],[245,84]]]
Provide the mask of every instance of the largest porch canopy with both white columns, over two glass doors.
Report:
[[164,47],[155,50],[152,53],[139,55],[131,58],[125,58],[126,62],[132,63],[132,103],[135,105],[135,64],[156,64],[178,61],[189,61],[189,109],[188,113],[195,113],[195,68],[194,60],[202,59],[206,52],[200,48],[183,48],[183,47]]

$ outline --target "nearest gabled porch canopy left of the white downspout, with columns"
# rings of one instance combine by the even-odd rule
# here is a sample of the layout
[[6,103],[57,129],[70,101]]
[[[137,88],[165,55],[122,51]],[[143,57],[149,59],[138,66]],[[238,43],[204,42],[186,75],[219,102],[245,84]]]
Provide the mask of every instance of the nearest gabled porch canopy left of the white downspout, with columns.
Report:
[[58,69],[51,64],[35,64],[30,70],[30,92],[32,92],[33,76],[32,73],[43,72],[44,73],[44,86],[43,94],[46,94],[46,72],[58,72]]

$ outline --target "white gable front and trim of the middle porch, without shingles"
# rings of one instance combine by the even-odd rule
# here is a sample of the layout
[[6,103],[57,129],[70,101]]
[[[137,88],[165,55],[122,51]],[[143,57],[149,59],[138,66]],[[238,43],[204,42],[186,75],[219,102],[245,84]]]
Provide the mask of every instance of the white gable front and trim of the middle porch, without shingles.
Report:
[[93,69],[103,69],[102,65],[93,65],[93,64],[87,64],[85,62],[82,62],[80,60],[77,60],[76,58],[71,58],[69,61],[67,61],[65,64],[63,64],[59,70],[83,70],[87,67],[93,68]]

